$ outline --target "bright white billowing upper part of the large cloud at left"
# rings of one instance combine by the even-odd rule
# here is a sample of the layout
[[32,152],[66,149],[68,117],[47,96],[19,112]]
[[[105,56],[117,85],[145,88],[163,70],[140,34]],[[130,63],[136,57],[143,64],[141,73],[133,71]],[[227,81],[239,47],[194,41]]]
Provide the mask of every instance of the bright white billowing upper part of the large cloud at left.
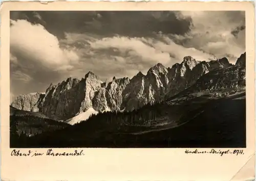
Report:
[[49,69],[62,69],[78,61],[73,50],[61,49],[58,39],[42,25],[31,24],[26,20],[12,20],[10,28],[10,49],[31,63]]

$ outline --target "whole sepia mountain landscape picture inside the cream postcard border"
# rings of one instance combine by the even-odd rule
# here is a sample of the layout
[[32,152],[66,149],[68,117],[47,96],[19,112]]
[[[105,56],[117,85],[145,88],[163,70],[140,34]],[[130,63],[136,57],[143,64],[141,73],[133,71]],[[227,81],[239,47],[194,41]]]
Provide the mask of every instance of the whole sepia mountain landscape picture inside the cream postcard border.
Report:
[[246,148],[245,30],[245,11],[10,11],[10,147]]

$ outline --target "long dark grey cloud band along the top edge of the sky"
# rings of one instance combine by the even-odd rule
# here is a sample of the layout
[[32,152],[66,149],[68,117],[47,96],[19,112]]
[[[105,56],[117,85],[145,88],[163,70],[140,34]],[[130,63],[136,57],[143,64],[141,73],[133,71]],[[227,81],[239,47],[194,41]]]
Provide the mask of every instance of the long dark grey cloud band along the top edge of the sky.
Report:
[[174,11],[19,11],[11,12],[10,18],[40,23],[59,39],[64,32],[105,37],[144,37],[154,32],[183,35],[191,23],[190,18],[177,19]]

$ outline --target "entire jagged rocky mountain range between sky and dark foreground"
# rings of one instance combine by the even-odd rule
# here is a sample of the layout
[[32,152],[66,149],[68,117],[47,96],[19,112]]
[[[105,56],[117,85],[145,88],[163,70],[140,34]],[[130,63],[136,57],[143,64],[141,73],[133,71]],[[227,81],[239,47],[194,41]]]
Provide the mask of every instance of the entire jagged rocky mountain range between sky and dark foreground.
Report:
[[51,84],[45,93],[19,95],[11,106],[40,112],[55,120],[68,120],[92,109],[95,112],[132,111],[185,90],[245,86],[245,57],[245,53],[242,54],[236,65],[232,65],[226,58],[206,62],[187,56],[171,68],[158,63],[146,75],[138,72],[132,79],[113,77],[110,82],[102,82],[88,72],[81,80],[70,77]]

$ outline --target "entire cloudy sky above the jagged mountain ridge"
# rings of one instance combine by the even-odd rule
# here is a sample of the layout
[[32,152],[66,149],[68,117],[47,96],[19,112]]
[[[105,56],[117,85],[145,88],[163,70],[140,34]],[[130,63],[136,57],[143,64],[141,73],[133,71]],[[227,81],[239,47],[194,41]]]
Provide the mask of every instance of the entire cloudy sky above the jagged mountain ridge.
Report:
[[12,11],[11,100],[88,71],[132,78],[185,56],[234,64],[244,52],[244,11]]

